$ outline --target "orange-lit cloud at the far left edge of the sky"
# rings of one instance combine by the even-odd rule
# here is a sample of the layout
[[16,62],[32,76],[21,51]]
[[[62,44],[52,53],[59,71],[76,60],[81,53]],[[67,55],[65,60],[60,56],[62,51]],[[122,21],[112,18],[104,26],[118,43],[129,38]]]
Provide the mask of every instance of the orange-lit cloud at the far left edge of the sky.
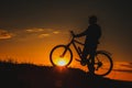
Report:
[[0,30],[0,40],[11,38],[12,36],[13,36],[12,33],[10,33],[6,30]]

